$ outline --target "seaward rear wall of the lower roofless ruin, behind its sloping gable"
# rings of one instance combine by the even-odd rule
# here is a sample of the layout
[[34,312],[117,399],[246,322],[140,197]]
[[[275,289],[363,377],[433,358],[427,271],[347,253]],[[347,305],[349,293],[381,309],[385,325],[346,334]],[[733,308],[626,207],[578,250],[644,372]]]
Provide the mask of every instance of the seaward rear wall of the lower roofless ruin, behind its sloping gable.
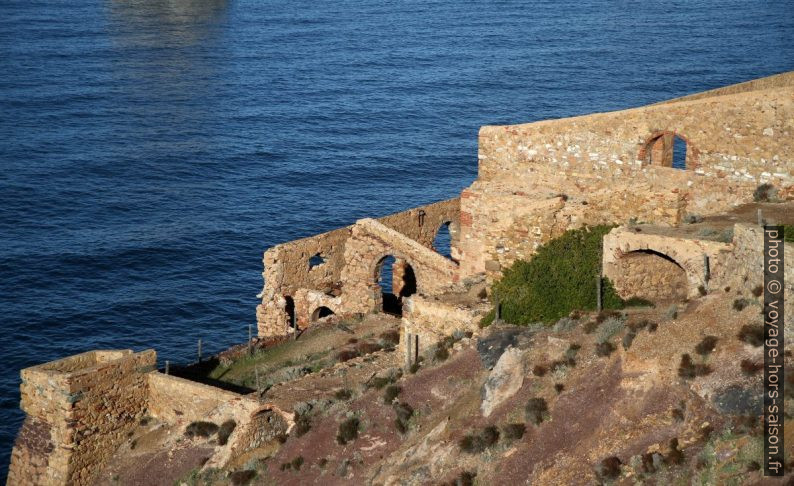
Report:
[[[388,237],[395,241],[411,239],[426,249],[433,248],[439,228],[449,223],[453,257],[458,253],[460,208],[457,198],[384,216],[377,222],[391,231]],[[294,303],[294,319],[298,328],[310,324],[312,313],[319,306],[328,307],[337,314],[360,312],[360,302],[369,301],[369,291],[367,295],[358,295],[356,289],[360,290],[362,286],[351,280],[352,273],[344,273],[349,262],[347,246],[354,228],[355,225],[348,226],[276,245],[265,252],[265,271],[262,274],[265,288],[262,302],[257,306],[259,336],[289,333],[287,298]],[[385,244],[388,247],[391,243],[386,241]],[[320,254],[325,262],[310,269],[309,259],[316,254]],[[353,290],[348,288],[351,285]],[[350,302],[352,304],[348,305]]]

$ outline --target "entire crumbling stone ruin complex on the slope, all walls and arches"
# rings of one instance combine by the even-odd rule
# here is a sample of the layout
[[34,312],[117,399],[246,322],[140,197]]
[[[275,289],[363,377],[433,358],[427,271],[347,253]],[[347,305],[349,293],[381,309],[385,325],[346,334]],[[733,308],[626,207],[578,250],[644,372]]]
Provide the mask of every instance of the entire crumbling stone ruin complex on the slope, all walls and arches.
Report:
[[[757,224],[738,222],[722,239],[664,228],[751,203],[761,184],[781,200],[794,198],[794,72],[642,108],[485,126],[478,159],[477,180],[458,198],[268,249],[259,336],[294,335],[330,315],[392,312],[402,315],[408,364],[452,331],[476,332],[487,286],[502,269],[585,225],[623,225],[605,237],[603,254],[603,274],[621,296],[754,288],[763,262]],[[648,229],[637,231],[640,223]],[[447,256],[433,247],[442,228],[450,234]],[[794,245],[786,250],[794,254]],[[794,258],[788,263],[791,293]],[[391,292],[381,285],[384,265]],[[250,396],[155,365],[152,350],[91,351],[22,370],[27,418],[9,484],[92,484],[144,413],[170,423],[236,417],[226,459],[255,446],[263,412],[291,420]],[[222,465],[224,457],[213,461]]]

